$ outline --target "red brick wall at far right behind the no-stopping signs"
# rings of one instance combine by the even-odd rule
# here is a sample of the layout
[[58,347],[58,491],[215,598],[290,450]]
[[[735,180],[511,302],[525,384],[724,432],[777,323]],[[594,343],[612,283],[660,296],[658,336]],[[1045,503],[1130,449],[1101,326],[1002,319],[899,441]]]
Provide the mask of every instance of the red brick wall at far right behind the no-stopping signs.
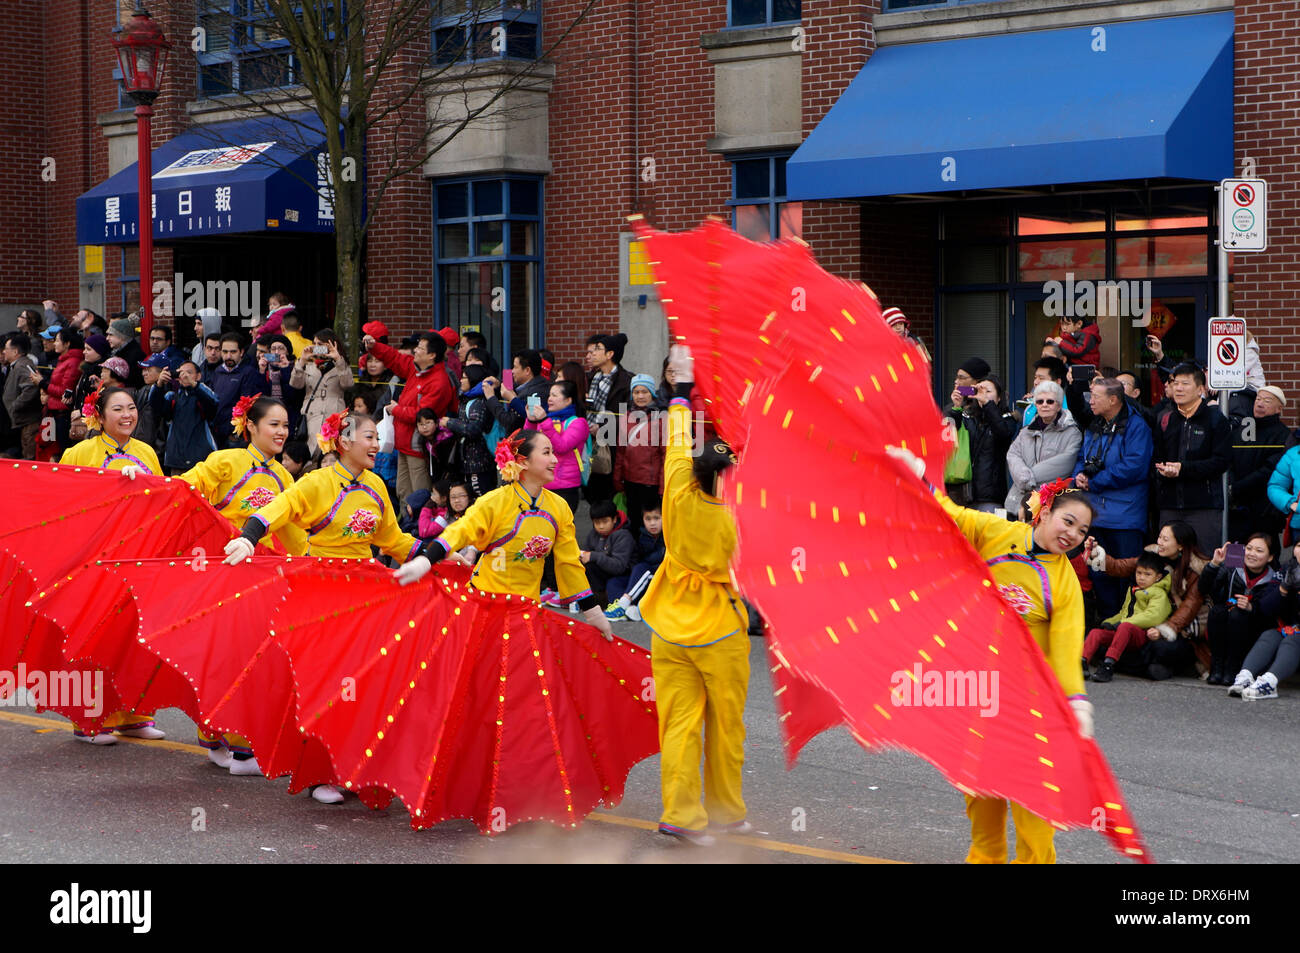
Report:
[[1295,8],[1268,0],[1238,0],[1235,153],[1254,159],[1269,183],[1269,250],[1232,256],[1234,311],[1260,339],[1269,384],[1288,393],[1292,423],[1300,397],[1296,367],[1295,268],[1300,260],[1300,159],[1296,108],[1300,105],[1300,26]]

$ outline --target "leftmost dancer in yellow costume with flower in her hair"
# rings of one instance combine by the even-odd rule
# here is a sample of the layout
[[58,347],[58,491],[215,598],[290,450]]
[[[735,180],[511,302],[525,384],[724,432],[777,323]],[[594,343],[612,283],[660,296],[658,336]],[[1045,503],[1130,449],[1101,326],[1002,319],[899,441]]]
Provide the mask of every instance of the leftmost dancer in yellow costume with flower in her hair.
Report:
[[[129,390],[122,387],[96,389],[82,406],[82,419],[86,421],[87,429],[99,430],[99,433],[65,450],[58,459],[60,464],[113,469],[130,480],[134,480],[139,473],[162,476],[162,467],[159,465],[153,447],[131,437],[140,415],[135,407],[135,398]],[[112,745],[117,742],[117,736],[113,732],[151,741],[165,737],[153,724],[152,711],[114,711],[104,720],[98,735],[82,731],[74,731],[73,735],[92,745]]]

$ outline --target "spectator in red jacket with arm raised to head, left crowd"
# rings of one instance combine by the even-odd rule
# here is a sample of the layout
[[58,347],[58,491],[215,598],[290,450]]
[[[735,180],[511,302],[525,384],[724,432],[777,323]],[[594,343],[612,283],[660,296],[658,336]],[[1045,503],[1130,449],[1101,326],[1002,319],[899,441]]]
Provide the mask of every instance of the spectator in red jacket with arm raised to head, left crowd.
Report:
[[381,345],[369,334],[361,338],[361,346],[369,354],[406,381],[402,394],[386,408],[393,416],[394,446],[398,450],[398,499],[403,501],[416,490],[433,486],[416,432],[416,415],[428,407],[439,417],[447,417],[456,412],[459,403],[443,363],[447,342],[432,332],[416,337],[411,356]]

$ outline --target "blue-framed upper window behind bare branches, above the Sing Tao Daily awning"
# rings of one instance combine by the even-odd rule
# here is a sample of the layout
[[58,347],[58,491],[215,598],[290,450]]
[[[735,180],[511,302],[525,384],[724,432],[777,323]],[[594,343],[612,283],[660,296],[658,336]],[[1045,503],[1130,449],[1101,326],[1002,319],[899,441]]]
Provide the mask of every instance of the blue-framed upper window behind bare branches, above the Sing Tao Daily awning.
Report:
[[[298,57],[266,0],[198,0],[203,49],[199,95],[254,92],[298,83]],[[296,8],[302,17],[302,5]]]

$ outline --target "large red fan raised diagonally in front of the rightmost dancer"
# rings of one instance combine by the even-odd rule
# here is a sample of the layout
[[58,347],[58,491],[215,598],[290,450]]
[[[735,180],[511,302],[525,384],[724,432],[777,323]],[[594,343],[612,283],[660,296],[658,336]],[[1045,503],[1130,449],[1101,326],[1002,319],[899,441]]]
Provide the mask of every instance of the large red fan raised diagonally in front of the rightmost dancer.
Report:
[[[930,368],[884,324],[875,296],[793,242],[757,244],[718,225],[641,234],[675,338],[693,351],[727,342],[731,380],[697,371],[697,382],[720,410],[719,433],[745,443],[725,490],[734,572],[772,627],[790,757],[844,723],[863,744],[913,750],[962,790],[1006,797],[1057,827],[1101,818],[1117,849],[1148,859],[1023,620],[924,485],[885,454],[911,449],[941,482]],[[702,241],[712,257],[701,256]],[[736,269],[732,283],[718,261]],[[741,278],[745,294],[710,307],[711,289]],[[748,378],[738,397],[737,376]],[[918,666],[996,673],[996,711],[992,699],[898,703],[911,699]]]

